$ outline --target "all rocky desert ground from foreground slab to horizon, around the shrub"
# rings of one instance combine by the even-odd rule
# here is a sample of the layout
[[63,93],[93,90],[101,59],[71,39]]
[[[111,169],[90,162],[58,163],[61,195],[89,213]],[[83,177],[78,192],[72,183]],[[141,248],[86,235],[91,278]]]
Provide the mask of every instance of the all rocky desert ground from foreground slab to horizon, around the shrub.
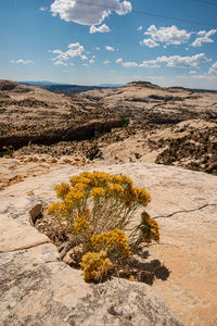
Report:
[[[0,153],[1,325],[217,324],[217,91],[0,80]],[[136,256],[140,281],[85,283],[54,240],[54,186],[85,171],[149,190],[161,241]]]

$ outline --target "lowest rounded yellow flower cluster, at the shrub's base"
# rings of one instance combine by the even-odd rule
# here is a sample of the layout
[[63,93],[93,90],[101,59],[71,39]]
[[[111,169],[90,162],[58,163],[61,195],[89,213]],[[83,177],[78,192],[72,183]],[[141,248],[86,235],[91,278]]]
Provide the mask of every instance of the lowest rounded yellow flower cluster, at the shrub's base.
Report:
[[103,251],[87,252],[80,263],[85,280],[100,280],[112,268],[112,263]]

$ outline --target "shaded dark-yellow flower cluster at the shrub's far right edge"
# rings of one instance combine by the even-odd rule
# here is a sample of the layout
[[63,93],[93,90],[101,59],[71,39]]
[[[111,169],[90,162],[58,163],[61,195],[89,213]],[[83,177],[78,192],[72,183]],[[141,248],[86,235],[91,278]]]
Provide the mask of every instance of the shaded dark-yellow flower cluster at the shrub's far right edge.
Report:
[[150,215],[144,211],[141,214],[141,230],[145,238],[146,243],[151,243],[152,239],[156,242],[159,241],[159,226],[158,223],[150,217]]

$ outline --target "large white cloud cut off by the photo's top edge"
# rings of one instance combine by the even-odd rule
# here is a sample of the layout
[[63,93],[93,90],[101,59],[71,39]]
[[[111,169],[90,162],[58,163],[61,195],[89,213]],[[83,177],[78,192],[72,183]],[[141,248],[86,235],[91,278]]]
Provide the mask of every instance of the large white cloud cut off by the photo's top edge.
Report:
[[131,12],[132,7],[129,1],[120,0],[54,0],[51,4],[53,16],[66,22],[74,22],[81,25],[99,25],[113,11],[118,15]]

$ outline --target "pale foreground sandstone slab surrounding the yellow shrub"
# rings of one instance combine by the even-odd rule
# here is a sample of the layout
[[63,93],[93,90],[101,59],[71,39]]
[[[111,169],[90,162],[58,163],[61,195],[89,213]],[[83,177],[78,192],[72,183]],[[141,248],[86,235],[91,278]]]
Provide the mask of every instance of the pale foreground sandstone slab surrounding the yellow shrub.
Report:
[[[148,188],[149,212],[162,226],[162,244],[148,248],[148,261],[164,262],[170,271],[167,280],[157,279],[153,289],[116,278],[88,285],[30,226],[30,208],[38,200],[55,201],[54,185],[84,170],[125,173]],[[216,325],[216,176],[142,163],[60,165],[11,185],[0,192],[2,325],[181,325],[161,297],[183,324]]]

